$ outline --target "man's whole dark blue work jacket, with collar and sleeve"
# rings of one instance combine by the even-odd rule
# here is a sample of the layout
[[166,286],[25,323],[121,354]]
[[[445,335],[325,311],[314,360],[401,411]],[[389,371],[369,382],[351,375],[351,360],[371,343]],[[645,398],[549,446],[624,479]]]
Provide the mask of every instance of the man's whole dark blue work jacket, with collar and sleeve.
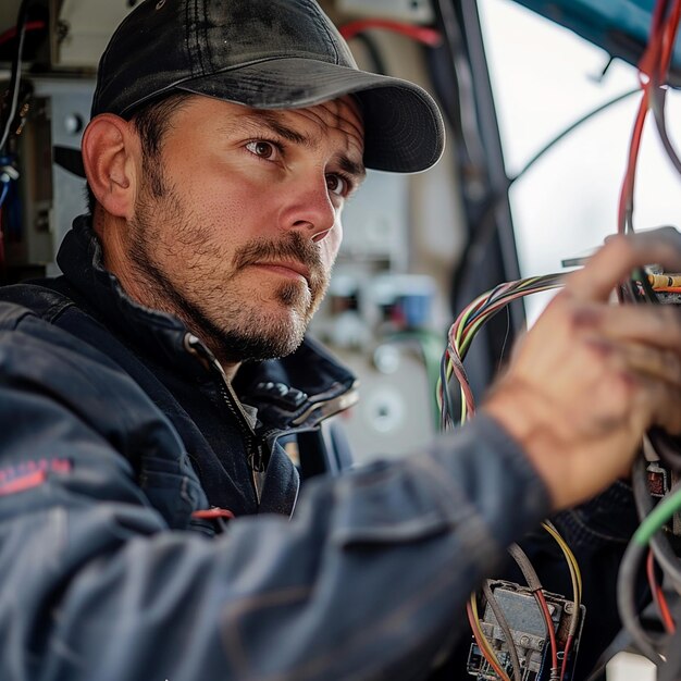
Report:
[[[0,289],[0,679],[429,676],[470,591],[548,511],[517,443],[481,412],[296,503],[277,438],[351,404],[355,379],[306,340],[230,386],[177,320],[124,295],[85,219],[59,263]],[[218,534],[214,507],[236,516]],[[632,516],[616,485],[556,519],[595,604],[585,668],[617,629]],[[525,549],[569,593],[550,538]],[[465,678],[457,657],[446,678]]]

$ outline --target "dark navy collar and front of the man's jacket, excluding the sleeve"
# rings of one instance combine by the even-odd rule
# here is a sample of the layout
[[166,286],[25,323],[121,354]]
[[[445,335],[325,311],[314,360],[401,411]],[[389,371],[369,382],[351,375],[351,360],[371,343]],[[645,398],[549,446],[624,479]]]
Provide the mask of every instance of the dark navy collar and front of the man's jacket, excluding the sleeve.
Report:
[[230,385],[184,324],[125,295],[103,269],[85,216],[67,233],[58,263],[63,276],[5,287],[0,299],[26,306],[120,364],[174,424],[211,506],[235,516],[289,515],[298,473],[277,438],[350,406],[355,377],[308,338],[285,359],[243,367]]

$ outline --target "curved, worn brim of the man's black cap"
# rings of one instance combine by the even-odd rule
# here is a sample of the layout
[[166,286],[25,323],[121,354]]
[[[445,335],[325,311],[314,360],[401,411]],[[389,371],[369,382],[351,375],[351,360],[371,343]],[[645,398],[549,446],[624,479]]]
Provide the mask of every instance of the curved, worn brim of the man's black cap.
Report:
[[364,120],[364,164],[417,172],[442,156],[445,132],[433,98],[418,85],[302,58],[260,61],[176,83],[173,89],[255,109],[299,109],[355,94]]

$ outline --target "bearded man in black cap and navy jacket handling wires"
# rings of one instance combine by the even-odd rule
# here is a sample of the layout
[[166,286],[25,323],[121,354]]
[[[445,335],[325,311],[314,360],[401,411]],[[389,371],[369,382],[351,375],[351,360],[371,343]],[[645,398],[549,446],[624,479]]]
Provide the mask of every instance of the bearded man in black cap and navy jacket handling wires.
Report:
[[679,235],[572,275],[459,433],[296,503],[277,438],[352,399],[304,339],[344,201],[437,160],[436,107],[312,0],[147,0],[98,78],[91,218],[2,292],[0,678],[428,676],[510,542],[681,431],[677,315],[607,305]]

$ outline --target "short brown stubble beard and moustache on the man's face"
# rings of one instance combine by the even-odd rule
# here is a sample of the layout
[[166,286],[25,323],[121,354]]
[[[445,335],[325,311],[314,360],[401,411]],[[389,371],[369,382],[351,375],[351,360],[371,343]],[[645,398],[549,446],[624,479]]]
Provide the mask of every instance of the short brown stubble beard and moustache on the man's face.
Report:
[[[163,239],[163,233],[172,235],[172,243]],[[190,257],[183,248],[190,249]],[[171,268],[162,264],[154,255],[160,249],[169,256],[165,262],[177,268],[169,271]],[[191,211],[170,187],[161,197],[145,193],[139,198],[131,221],[129,257],[134,275],[143,283],[138,289],[147,298],[140,302],[179,318],[221,362],[274,359],[293,352],[329,285],[318,247],[297,232],[277,242],[248,242],[232,255],[232,268],[225,275],[225,256],[211,230],[193,220]],[[271,287],[263,292],[238,286],[239,273],[250,264],[290,259],[304,263],[311,276],[307,286],[284,282],[274,290],[273,297],[287,313],[268,312],[273,305]]]

